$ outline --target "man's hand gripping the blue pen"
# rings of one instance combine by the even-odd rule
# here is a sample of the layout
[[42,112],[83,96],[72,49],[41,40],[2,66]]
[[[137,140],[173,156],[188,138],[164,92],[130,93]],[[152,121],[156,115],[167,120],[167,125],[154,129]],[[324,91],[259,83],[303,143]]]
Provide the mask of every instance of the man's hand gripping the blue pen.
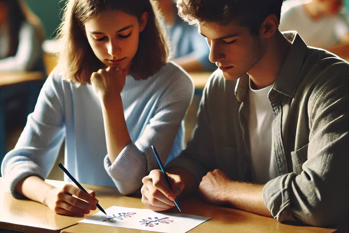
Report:
[[179,175],[170,173],[167,175],[172,184],[172,190],[168,188],[161,170],[152,170],[148,176],[142,179],[142,203],[148,209],[164,211],[175,206],[173,200],[184,189],[184,182]]

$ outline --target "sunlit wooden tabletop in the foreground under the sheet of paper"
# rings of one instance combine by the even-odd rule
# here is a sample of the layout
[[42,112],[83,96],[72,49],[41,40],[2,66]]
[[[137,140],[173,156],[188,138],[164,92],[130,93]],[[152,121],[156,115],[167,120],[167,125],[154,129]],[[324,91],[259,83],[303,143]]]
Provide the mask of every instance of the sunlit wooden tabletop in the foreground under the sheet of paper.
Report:
[[[46,180],[56,187],[64,185],[62,181]],[[138,197],[120,195],[116,188],[96,185],[83,185],[85,188],[96,191],[99,204],[106,209],[110,206],[125,206],[144,208]],[[0,178],[0,187],[1,184]],[[281,224],[273,218],[259,216],[228,207],[220,207],[202,202],[195,195],[180,199],[183,213],[205,217],[213,217],[205,223],[195,227],[190,232],[334,232],[333,229],[304,225]],[[46,206],[29,200],[15,199],[3,189],[0,190],[0,229],[20,232],[146,232],[135,229],[109,227],[79,223],[82,218],[67,217],[55,214]],[[98,212],[98,209],[86,214],[88,217]],[[176,209],[169,212],[176,213]]]

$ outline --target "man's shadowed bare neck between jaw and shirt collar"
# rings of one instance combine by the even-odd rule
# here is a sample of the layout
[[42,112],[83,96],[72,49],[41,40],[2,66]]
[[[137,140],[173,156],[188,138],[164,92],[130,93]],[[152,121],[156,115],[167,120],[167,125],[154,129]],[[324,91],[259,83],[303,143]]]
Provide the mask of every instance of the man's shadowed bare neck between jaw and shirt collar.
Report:
[[279,30],[269,39],[266,52],[261,60],[248,72],[257,89],[272,85],[279,75],[291,47]]

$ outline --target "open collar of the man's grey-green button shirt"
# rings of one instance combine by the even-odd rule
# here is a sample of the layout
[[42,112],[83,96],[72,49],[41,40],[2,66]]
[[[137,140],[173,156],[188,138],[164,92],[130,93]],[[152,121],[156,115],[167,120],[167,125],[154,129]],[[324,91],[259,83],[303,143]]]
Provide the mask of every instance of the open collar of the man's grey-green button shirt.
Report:
[[[298,84],[301,81],[299,80],[300,71],[302,70],[307,45],[296,31],[285,31],[282,32],[282,34],[292,42],[292,45],[287,53],[280,73],[277,75],[273,89],[281,94],[294,98]],[[235,95],[240,102],[242,102],[247,92],[248,81],[249,77],[247,74],[237,80]]]

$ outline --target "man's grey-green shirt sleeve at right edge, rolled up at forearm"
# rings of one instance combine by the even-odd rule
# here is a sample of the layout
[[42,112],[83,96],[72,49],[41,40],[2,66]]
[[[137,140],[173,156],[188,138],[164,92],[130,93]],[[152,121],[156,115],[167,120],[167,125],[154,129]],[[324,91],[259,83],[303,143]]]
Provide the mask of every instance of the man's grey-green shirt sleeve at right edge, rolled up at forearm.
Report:
[[349,208],[349,78],[323,86],[308,104],[309,145],[300,174],[270,180],[263,199],[278,221],[298,219],[314,226],[342,221]]

